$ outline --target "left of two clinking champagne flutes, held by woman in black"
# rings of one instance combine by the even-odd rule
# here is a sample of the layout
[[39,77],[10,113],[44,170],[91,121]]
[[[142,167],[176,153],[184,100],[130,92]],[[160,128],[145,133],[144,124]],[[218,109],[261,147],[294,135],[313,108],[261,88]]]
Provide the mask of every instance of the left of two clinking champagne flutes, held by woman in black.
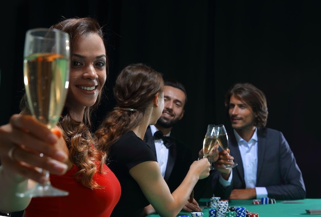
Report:
[[[216,145],[218,134],[219,134],[219,128],[214,124],[208,124],[206,134],[203,140],[203,155],[204,157],[207,157],[210,152],[213,150],[213,148]],[[211,170],[213,170],[214,167],[211,166]]]

